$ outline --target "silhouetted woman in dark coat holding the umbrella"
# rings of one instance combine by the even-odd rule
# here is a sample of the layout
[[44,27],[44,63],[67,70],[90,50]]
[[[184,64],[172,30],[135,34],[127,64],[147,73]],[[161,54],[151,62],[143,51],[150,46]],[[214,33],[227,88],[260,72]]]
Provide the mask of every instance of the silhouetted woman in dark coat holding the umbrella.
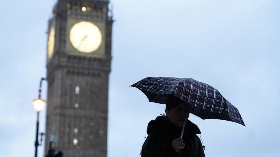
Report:
[[147,138],[142,146],[141,157],[205,157],[203,146],[196,134],[199,128],[189,120],[183,138],[180,138],[185,116],[190,115],[190,105],[170,95],[166,100],[166,115],[151,120]]

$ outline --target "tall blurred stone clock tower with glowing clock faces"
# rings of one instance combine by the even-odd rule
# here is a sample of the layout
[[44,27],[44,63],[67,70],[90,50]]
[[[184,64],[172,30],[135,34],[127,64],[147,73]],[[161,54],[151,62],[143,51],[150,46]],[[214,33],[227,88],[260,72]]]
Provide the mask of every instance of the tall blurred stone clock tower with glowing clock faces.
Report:
[[109,0],[58,0],[48,20],[45,154],[106,157],[112,14]]

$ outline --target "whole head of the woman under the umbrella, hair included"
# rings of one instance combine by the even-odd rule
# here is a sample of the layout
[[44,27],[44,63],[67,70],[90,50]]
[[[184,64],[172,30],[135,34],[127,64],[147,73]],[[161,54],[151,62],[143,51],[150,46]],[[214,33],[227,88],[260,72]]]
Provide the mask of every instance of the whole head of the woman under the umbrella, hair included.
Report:
[[165,113],[171,123],[178,127],[183,127],[185,117],[190,115],[188,109],[190,105],[181,99],[170,95],[166,100]]

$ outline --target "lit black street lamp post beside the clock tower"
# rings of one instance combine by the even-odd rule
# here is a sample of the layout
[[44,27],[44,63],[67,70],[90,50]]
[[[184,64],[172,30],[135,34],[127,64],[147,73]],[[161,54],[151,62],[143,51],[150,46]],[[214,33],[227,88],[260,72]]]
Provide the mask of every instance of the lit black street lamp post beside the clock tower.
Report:
[[37,150],[39,146],[38,142],[38,131],[39,131],[39,113],[41,110],[43,110],[44,106],[46,105],[46,102],[41,99],[41,87],[42,87],[42,81],[46,80],[45,78],[41,78],[40,81],[40,87],[39,87],[39,96],[37,99],[33,100],[32,104],[34,105],[34,108],[37,112],[37,123],[36,123],[36,141],[35,141],[35,157],[37,157]]

